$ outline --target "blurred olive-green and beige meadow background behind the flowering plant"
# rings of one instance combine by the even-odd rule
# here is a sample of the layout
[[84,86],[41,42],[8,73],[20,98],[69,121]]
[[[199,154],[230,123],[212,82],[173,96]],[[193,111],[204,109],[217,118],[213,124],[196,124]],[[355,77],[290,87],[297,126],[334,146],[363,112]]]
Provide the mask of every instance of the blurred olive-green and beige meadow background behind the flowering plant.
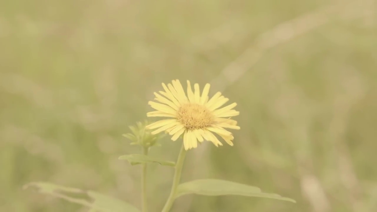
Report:
[[[297,203],[179,198],[176,212],[377,211],[374,0],[3,0],[0,211],[85,212],[23,190],[91,189],[140,206],[139,152],[122,137],[161,83],[211,83],[237,102],[234,147],[190,151],[182,181],[220,178]],[[151,150],[175,160],[168,137]],[[173,170],[149,166],[150,211]]]

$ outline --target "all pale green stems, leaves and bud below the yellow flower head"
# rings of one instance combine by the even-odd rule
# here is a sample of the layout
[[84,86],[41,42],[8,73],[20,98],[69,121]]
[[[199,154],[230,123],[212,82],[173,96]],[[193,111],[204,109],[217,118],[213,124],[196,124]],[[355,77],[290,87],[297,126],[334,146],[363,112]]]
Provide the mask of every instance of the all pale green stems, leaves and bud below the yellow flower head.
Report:
[[[187,183],[179,184],[181,170],[183,161],[186,155],[186,150],[183,148],[183,144],[181,147],[181,152],[178,156],[177,164],[171,161],[162,160],[159,157],[149,156],[147,155],[147,148],[151,145],[155,144],[157,138],[153,138],[150,134],[147,134],[145,131],[145,125],[138,122],[138,128],[130,127],[133,132],[134,137],[129,135],[130,138],[141,144],[140,146],[143,147],[144,155],[141,154],[131,154],[131,155],[122,155],[118,159],[119,160],[127,160],[130,162],[131,165],[136,164],[143,164],[143,180],[142,180],[142,187],[145,189],[146,181],[145,181],[145,171],[146,171],[146,164],[147,163],[159,163],[164,166],[172,166],[175,167],[176,172],[174,175],[173,186],[171,194],[167,200],[167,206],[164,207],[163,211],[167,212],[170,211],[172,207],[172,203],[174,202],[175,198],[180,197],[185,194],[198,194],[198,195],[207,195],[207,196],[219,196],[219,195],[240,195],[240,196],[247,196],[247,197],[264,197],[264,198],[272,198],[276,200],[285,200],[296,202],[290,198],[281,197],[278,194],[268,194],[263,193],[261,189],[258,187],[248,186],[245,184],[235,183],[231,181],[225,180],[216,180],[216,179],[202,179],[202,180],[195,180]],[[145,142],[148,140],[149,142]],[[150,142],[153,140],[153,143]],[[146,146],[147,145],[147,146]],[[181,160],[179,160],[181,158]],[[178,170],[178,172],[177,172]],[[36,182],[36,183],[29,183],[26,187],[37,187],[38,192],[49,194],[54,197],[63,198],[64,200],[81,204],[83,206],[90,207],[91,209],[103,211],[103,212],[138,212],[138,209],[133,207],[132,205],[125,203],[123,201],[114,199],[112,197],[98,194],[97,192],[93,191],[84,191],[76,188],[58,186],[51,183],[45,182]],[[146,190],[143,190],[143,211],[147,211],[147,202],[146,202],[146,194],[144,193]],[[72,197],[72,194],[75,197]],[[80,198],[77,197],[77,194],[81,195]]]

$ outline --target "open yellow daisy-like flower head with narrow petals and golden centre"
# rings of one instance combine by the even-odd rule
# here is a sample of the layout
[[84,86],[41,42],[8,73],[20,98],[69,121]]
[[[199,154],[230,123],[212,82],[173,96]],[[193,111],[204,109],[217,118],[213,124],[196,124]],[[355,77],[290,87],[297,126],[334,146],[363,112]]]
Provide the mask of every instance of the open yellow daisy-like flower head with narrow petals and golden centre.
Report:
[[[237,121],[230,117],[239,115],[233,108],[236,103],[223,106],[229,99],[217,92],[208,100],[210,84],[204,86],[200,94],[199,84],[194,84],[194,92],[191,89],[190,81],[187,80],[187,96],[179,80],[173,80],[167,86],[162,83],[164,91],[160,94],[154,93],[156,103],[149,101],[149,105],[156,111],[148,112],[147,117],[169,117],[169,119],[156,121],[146,126],[147,129],[156,129],[152,134],[165,131],[172,135],[175,141],[183,134],[183,143],[186,150],[198,147],[198,141],[211,141],[216,146],[222,143],[215,136],[216,133],[222,137],[230,146],[233,146],[234,139],[231,132],[224,128],[240,129]],[[219,109],[220,108],[220,109]]]

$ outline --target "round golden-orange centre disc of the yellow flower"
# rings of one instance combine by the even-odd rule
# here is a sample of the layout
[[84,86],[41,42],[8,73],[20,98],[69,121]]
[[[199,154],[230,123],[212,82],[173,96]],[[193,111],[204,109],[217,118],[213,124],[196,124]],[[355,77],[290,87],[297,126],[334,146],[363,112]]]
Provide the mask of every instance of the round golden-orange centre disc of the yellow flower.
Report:
[[184,124],[186,129],[204,129],[214,122],[214,117],[203,105],[183,104],[178,109],[177,120]]

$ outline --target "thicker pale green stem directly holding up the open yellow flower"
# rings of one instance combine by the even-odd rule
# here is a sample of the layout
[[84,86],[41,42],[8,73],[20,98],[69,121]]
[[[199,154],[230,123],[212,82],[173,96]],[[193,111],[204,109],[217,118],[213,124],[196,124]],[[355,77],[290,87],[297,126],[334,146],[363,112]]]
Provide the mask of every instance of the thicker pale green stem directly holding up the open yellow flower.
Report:
[[174,203],[174,200],[175,200],[175,194],[176,194],[176,191],[177,191],[177,187],[179,185],[179,180],[181,180],[182,166],[183,166],[183,161],[185,160],[185,156],[186,156],[186,150],[185,150],[183,142],[182,142],[181,151],[179,152],[177,163],[175,164],[175,172],[174,172],[172,190],[170,190],[170,195],[167,198],[167,201],[165,203],[164,208],[162,209],[162,212],[169,212],[169,210],[173,206],[173,203]]

